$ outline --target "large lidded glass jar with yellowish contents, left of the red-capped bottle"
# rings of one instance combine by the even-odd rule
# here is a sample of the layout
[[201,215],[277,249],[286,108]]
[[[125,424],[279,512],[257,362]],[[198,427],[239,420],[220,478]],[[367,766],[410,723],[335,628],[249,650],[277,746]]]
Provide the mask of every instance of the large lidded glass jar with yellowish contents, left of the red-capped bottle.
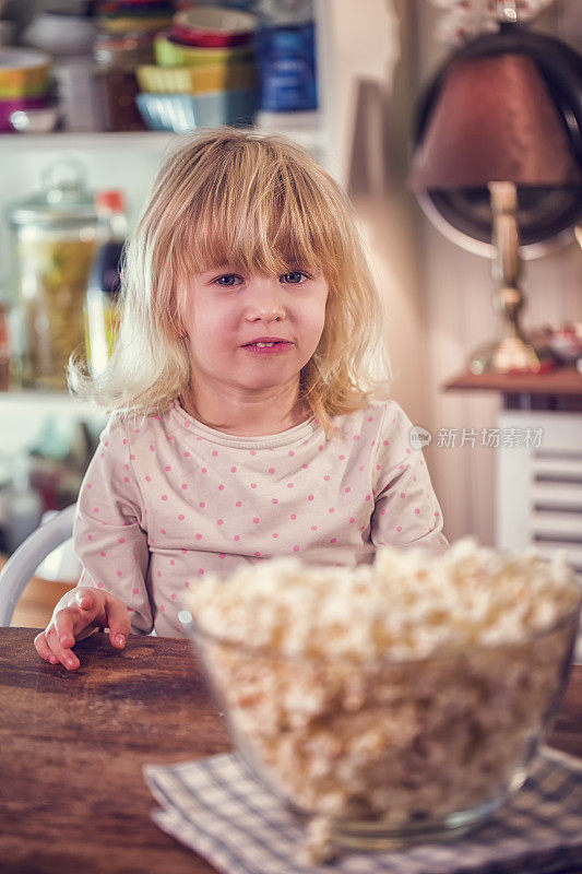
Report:
[[22,381],[63,389],[69,356],[84,345],[84,304],[95,252],[97,214],[83,165],[58,161],[41,191],[13,203],[19,300],[23,321]]

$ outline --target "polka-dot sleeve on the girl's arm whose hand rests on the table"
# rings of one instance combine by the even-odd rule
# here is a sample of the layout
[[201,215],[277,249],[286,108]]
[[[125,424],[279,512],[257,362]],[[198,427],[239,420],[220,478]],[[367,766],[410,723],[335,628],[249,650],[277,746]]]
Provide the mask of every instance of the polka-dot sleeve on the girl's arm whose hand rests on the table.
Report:
[[83,571],[78,584],[105,589],[123,601],[132,630],[139,633],[153,627],[144,519],[126,428],[110,422],[79,494],[73,541]]

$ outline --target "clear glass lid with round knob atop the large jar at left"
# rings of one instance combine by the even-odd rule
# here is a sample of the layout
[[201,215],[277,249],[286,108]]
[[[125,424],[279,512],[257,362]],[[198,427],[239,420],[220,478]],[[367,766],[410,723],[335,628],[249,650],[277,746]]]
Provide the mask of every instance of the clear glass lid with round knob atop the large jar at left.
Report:
[[12,203],[7,213],[12,225],[96,221],[95,196],[85,187],[84,166],[74,158],[45,168],[41,190]]

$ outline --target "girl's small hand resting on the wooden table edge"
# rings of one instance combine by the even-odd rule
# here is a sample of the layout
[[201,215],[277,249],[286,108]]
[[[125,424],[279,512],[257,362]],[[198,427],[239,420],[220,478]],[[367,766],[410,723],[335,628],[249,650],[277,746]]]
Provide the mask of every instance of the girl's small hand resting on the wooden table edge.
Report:
[[76,587],[61,598],[34,645],[47,662],[60,662],[68,671],[74,671],[81,662],[71,647],[94,628],[109,628],[112,646],[123,649],[131,630],[128,609],[119,598],[102,589]]

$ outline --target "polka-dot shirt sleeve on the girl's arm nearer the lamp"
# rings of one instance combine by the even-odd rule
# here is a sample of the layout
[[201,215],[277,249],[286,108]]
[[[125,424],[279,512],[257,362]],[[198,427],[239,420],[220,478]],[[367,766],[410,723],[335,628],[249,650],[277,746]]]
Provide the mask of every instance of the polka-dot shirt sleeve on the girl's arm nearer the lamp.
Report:
[[371,540],[377,546],[421,546],[440,553],[449,547],[442,512],[423,451],[411,446],[412,427],[397,403],[387,405],[376,458]]

